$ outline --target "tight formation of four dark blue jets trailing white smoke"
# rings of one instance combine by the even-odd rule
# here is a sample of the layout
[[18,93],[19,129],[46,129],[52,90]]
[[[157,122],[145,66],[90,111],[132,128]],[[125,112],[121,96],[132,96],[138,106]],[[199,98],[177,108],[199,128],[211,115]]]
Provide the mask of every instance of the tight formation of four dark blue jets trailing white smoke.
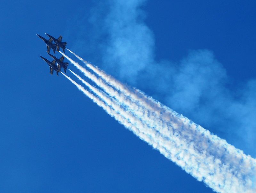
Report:
[[[58,59],[57,57],[50,54],[50,51],[52,49],[53,53],[55,54],[56,50],[57,50],[57,52],[59,52],[60,48],[62,48],[63,52],[65,52],[67,42],[61,42],[62,36],[60,36],[58,39],[56,39],[46,33],[46,35],[50,37],[50,39],[47,40],[38,34],[36,34],[36,35],[45,42],[46,47],[47,47],[47,53],[53,58],[53,61],[51,62],[51,61],[47,60],[46,58],[44,58],[43,56],[40,56],[50,66],[50,73],[53,74],[53,71],[55,70],[56,74],[59,75],[61,68],[63,68],[64,72],[66,73],[67,72],[66,70],[68,67],[68,62],[64,62],[64,56],[61,56]],[[54,41],[55,43],[52,43],[52,41]],[[56,65],[56,62],[57,62],[57,65]]]

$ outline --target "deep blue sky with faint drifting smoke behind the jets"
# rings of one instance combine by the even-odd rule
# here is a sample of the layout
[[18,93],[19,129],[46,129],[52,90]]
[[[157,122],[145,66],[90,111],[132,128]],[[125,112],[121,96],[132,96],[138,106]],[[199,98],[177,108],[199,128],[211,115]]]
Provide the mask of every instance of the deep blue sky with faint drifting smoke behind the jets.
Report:
[[36,34],[256,157],[255,18],[255,1],[2,3],[0,192],[212,192],[50,75]]

